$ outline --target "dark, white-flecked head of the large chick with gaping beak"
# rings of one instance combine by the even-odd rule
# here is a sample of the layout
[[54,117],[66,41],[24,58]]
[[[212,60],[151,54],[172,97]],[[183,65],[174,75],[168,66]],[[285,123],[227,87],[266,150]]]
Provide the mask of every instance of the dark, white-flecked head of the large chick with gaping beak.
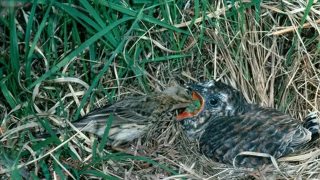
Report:
[[192,98],[200,101],[196,112],[184,111],[176,117],[186,131],[201,131],[209,119],[218,115],[231,116],[243,113],[248,103],[243,95],[230,85],[215,80],[201,83],[186,83],[184,86],[193,91]]

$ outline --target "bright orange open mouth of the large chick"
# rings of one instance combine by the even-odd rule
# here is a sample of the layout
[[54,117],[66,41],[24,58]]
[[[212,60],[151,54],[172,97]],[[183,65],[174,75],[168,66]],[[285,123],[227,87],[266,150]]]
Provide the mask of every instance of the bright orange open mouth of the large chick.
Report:
[[175,120],[181,120],[181,119],[184,119],[184,118],[187,118],[187,117],[194,117],[194,116],[198,115],[202,111],[203,105],[204,105],[203,97],[199,93],[193,91],[192,99],[199,101],[199,103],[200,103],[199,106],[197,108],[195,108],[193,106],[193,109],[191,111],[188,110],[188,109],[184,110],[182,113],[180,113],[179,115],[177,115],[175,117]]

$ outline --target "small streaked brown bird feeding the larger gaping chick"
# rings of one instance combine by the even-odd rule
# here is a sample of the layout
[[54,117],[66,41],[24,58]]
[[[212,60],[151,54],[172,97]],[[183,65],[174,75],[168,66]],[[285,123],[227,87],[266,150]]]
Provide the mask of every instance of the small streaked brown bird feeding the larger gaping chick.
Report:
[[[113,114],[108,138],[112,144],[131,141],[145,132],[152,124],[176,109],[192,104],[191,95],[184,87],[171,86],[162,92],[121,99],[113,104],[95,109],[72,124],[84,132],[102,136],[110,114]],[[174,117],[172,116],[172,119]],[[72,129],[69,129],[72,130]],[[61,133],[63,131],[56,131]],[[40,135],[45,137],[46,135]]]

